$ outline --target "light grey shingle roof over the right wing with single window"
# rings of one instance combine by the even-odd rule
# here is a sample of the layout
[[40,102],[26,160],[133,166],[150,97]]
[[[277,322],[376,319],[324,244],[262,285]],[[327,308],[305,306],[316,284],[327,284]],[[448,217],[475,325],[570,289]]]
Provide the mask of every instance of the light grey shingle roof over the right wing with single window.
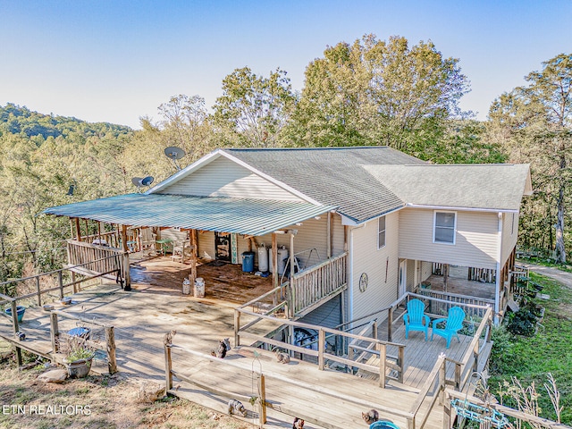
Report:
[[518,210],[527,164],[366,165],[410,205]]

